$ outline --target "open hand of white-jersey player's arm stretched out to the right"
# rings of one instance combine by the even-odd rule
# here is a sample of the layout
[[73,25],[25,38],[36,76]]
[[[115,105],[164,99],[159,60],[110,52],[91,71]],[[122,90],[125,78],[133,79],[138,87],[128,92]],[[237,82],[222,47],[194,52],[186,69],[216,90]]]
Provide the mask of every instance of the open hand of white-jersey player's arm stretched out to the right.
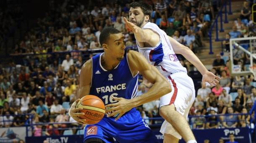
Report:
[[211,86],[215,86],[219,83],[220,79],[220,77],[214,75],[212,72],[207,71],[202,78],[202,87],[205,87],[205,82],[210,83]]

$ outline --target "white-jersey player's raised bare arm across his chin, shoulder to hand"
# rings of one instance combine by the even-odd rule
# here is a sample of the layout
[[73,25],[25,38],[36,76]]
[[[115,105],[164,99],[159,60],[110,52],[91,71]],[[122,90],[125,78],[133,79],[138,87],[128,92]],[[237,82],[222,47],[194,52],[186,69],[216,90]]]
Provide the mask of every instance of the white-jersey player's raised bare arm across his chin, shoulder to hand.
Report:
[[136,41],[140,47],[145,47],[147,44],[151,47],[155,47],[159,43],[160,37],[157,33],[150,29],[141,29],[135,24],[129,22],[126,18],[123,19],[126,25],[133,31]]

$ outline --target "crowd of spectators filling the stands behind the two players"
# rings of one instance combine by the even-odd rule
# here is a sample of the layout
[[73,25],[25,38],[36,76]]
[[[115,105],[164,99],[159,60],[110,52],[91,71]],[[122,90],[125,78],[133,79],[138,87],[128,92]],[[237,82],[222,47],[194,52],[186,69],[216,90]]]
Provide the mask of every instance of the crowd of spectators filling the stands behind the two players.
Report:
[[[90,1],[91,2],[91,1]],[[60,135],[62,130],[78,126],[69,118],[67,111],[76,99],[76,89],[79,83],[81,65],[93,54],[86,55],[89,49],[97,49],[99,35],[103,28],[114,27],[125,35],[126,46],[135,46],[131,31],[125,26],[122,17],[128,18],[128,3],[130,0],[118,3],[103,3],[97,1],[97,6],[86,8],[82,3],[65,0],[63,3],[50,3],[51,10],[43,18],[38,18],[36,25],[26,32],[24,37],[13,48],[13,55],[34,53],[11,62],[8,66],[0,65],[0,127],[22,126],[24,121],[33,114],[33,123],[72,122],[72,124],[36,125],[34,135]],[[218,11],[217,3],[209,0],[147,0],[153,6],[154,14],[151,22],[157,23],[167,35],[188,46],[194,52],[204,45],[202,38],[207,36],[211,20]],[[54,6],[58,8],[54,8]],[[248,18],[246,4],[241,18]],[[0,13],[0,16],[1,13]],[[1,23],[1,22],[0,22]],[[6,25],[6,24],[5,24]],[[240,29],[238,28],[240,25]],[[6,25],[7,26],[7,25]],[[240,30],[240,33],[235,31]],[[232,36],[250,35],[247,26],[239,21],[234,25]],[[235,33],[235,34],[234,34]],[[229,36],[229,37],[228,37]],[[1,40],[1,39],[0,39]],[[228,41],[223,42],[229,44]],[[68,52],[68,53],[56,53]],[[248,60],[244,53],[238,53],[238,64]],[[180,60],[182,65],[193,70],[188,62]],[[226,113],[248,113],[256,100],[256,88],[251,86],[254,78],[251,76],[231,78],[228,62],[217,55],[212,72],[221,76],[222,80],[216,87],[200,88],[190,115],[216,115]],[[19,64],[17,64],[19,63]],[[141,75],[138,82],[138,96],[146,93],[152,86]],[[237,92],[232,99],[230,92]],[[146,103],[138,110],[145,119],[160,117],[158,113],[159,100]],[[229,115],[211,116],[209,118],[192,118],[189,122],[193,128],[245,127],[252,116]],[[1,122],[5,120],[4,122]],[[233,121],[237,120],[237,121]],[[162,123],[161,120],[146,120],[149,125]],[[73,130],[75,133],[76,130]]]

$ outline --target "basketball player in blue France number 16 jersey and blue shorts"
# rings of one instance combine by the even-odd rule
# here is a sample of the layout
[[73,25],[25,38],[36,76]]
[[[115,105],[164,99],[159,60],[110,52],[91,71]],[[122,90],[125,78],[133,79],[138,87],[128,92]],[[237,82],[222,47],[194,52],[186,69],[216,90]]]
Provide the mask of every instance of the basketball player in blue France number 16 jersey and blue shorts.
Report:
[[[115,28],[102,30],[99,42],[104,53],[95,55],[81,68],[78,98],[85,95],[97,95],[105,105],[118,102],[117,98],[132,99],[138,88],[138,72],[154,85],[146,95],[162,96],[171,92],[168,81],[159,71],[150,65],[140,53],[125,50],[124,36]],[[78,123],[84,113],[77,113],[82,108],[75,108],[74,102],[69,115]],[[109,113],[110,114],[110,113]],[[86,125],[84,143],[158,143],[152,130],[141,118],[135,108],[131,108],[122,117],[104,118],[94,125]]]

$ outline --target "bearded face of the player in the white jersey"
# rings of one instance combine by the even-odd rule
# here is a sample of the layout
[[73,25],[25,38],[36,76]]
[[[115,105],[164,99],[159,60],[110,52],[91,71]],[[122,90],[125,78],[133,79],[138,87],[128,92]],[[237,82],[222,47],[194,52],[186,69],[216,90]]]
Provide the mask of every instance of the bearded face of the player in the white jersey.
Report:
[[141,25],[144,23],[145,20],[145,15],[142,12],[141,8],[136,7],[136,8],[130,8],[129,11],[129,20],[131,23],[137,25],[138,27],[141,27]]

